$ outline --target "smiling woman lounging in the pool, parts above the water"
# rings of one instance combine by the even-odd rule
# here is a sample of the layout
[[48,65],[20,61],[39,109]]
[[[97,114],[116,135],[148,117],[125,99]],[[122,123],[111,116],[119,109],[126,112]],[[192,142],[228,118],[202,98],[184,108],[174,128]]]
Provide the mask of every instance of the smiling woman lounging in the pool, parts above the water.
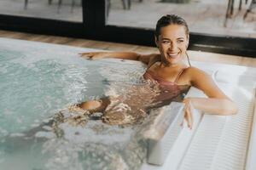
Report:
[[[234,102],[218,88],[206,72],[190,64],[187,66],[183,63],[183,57],[188,57],[186,51],[189,46],[189,28],[183,18],[176,14],[167,14],[161,17],[156,25],[154,40],[157,48],[159,48],[160,54],[142,55],[131,52],[96,52],[83,53],[81,56],[90,59],[111,57],[142,61],[148,65],[143,78],[149,80],[160,89],[159,95],[155,98],[158,100],[172,99],[173,96],[181,93],[185,88],[189,88],[190,86],[201,89],[208,98],[183,99],[183,103],[185,104],[185,119],[190,128],[193,124],[191,105],[195,109],[210,114],[224,116],[236,114],[237,107]],[[117,98],[110,97],[90,100],[79,104],[79,107],[90,112],[106,111],[112,99]],[[116,113],[116,115],[118,114],[121,113]],[[105,119],[105,121],[108,120]]]

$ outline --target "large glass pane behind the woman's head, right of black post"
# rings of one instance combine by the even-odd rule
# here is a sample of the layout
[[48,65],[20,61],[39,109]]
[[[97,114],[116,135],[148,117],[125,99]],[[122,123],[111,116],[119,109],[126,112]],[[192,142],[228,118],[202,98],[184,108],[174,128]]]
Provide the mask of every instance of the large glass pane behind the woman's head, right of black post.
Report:
[[[243,0],[106,0],[108,25],[154,28],[164,14],[178,14],[192,32],[255,37],[255,1]],[[241,2],[241,9],[239,9]],[[254,3],[254,5],[253,5]],[[230,4],[230,8],[228,8]],[[246,14],[251,6],[251,11]],[[233,7],[233,12],[232,12]],[[226,18],[226,14],[228,14]]]

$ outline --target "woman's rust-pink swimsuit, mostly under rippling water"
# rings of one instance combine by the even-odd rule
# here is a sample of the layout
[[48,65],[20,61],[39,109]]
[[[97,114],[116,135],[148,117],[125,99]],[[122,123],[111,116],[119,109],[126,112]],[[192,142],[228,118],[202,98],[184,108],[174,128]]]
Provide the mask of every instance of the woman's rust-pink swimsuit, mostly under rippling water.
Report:
[[148,70],[143,77],[150,80],[149,83],[125,88],[122,95],[102,99],[102,122],[111,125],[141,122],[150,109],[168,105],[172,101],[181,102],[183,94],[188,90],[184,88],[188,86],[179,86],[176,83],[183,70],[177,74],[174,82],[157,77],[153,71]]

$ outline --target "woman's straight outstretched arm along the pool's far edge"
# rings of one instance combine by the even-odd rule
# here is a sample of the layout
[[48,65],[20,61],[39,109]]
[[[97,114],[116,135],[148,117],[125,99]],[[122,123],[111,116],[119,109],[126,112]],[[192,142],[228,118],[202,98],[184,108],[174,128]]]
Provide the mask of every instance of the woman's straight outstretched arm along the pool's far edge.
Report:
[[80,54],[83,58],[89,59],[104,59],[104,58],[115,58],[115,59],[131,59],[139,60],[144,64],[148,65],[150,60],[157,58],[159,54],[137,54],[133,52],[91,52]]

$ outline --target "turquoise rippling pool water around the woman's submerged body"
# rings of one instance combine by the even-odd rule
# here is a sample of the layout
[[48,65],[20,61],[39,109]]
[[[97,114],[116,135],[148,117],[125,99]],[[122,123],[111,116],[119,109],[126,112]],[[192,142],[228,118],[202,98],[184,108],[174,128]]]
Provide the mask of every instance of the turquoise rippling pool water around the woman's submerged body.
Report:
[[40,127],[68,105],[102,97],[112,82],[124,88],[143,74],[137,62],[79,58],[83,50],[0,38],[1,169],[134,169],[142,163],[145,144],[133,138],[132,127],[63,124],[61,138]]

